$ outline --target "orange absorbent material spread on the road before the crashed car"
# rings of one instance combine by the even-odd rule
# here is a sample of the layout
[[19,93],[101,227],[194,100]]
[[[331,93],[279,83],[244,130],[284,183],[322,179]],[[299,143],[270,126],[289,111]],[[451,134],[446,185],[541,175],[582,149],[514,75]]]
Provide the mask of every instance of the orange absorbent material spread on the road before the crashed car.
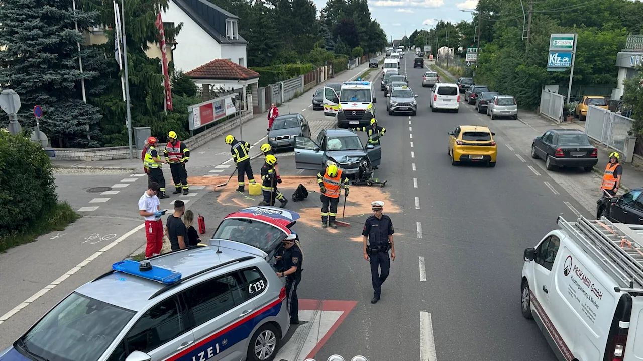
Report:
[[[259,179],[258,175],[255,179]],[[226,186],[214,188],[216,184],[224,183],[226,180],[228,180],[228,177],[190,177],[188,179],[191,185],[206,186],[205,189],[217,192],[217,202],[224,206],[257,206],[257,204],[263,200],[262,195],[248,195],[248,180],[246,180],[246,191],[243,193],[236,190],[238,186],[236,179],[231,179]],[[291,196],[294,189],[296,189],[300,183],[308,189],[308,198],[302,202],[293,202]],[[309,206],[296,209],[296,212],[302,216],[298,222],[321,228],[321,200],[317,177],[284,176],[282,177],[282,183],[278,184],[278,189],[284,193],[285,197],[290,201],[288,206],[286,206],[287,208],[292,204],[303,204],[304,202]],[[329,231],[329,233],[341,233],[341,229],[347,228],[350,229],[349,233],[361,233],[366,218],[372,214],[370,203],[374,200],[383,200],[385,202],[385,213],[400,213],[400,207],[393,202],[390,198],[390,193],[385,191],[385,189],[386,187],[382,188],[379,186],[350,186],[350,194],[347,198],[345,213],[345,221],[350,223],[350,227],[338,225],[337,229],[327,228],[326,230]],[[344,203],[343,198],[343,196],[340,197],[340,204],[337,209],[338,220],[341,220]],[[279,202],[276,202],[276,206],[278,206],[278,204]],[[361,235],[352,237],[350,240],[362,242]]]

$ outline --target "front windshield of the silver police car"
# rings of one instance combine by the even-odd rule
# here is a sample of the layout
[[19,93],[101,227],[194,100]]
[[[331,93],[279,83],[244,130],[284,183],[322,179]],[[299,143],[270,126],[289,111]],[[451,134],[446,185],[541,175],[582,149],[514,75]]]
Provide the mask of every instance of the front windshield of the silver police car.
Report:
[[132,311],[74,292],[33,326],[18,346],[48,361],[95,361],[132,317]]

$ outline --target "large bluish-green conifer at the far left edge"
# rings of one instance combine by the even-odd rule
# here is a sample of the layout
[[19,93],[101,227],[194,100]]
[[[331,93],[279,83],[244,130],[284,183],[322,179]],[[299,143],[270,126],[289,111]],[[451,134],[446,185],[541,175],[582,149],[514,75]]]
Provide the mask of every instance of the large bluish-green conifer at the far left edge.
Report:
[[[21,98],[19,116],[26,132],[35,123],[35,105],[42,107],[41,130],[54,146],[97,146],[98,109],[82,101],[80,79],[98,73],[80,72],[78,55],[91,62],[91,51],[78,51],[83,35],[75,30],[96,24],[96,12],[72,10],[71,0],[4,0],[0,6],[0,82]],[[89,89],[88,89],[89,90]],[[89,126],[89,131],[87,130]]]

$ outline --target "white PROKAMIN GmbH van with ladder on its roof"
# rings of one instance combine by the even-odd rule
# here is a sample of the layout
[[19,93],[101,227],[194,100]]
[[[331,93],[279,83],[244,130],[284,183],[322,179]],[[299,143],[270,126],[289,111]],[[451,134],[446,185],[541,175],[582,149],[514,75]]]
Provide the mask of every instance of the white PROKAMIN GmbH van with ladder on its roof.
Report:
[[525,249],[523,316],[559,360],[643,360],[643,225],[556,222]]

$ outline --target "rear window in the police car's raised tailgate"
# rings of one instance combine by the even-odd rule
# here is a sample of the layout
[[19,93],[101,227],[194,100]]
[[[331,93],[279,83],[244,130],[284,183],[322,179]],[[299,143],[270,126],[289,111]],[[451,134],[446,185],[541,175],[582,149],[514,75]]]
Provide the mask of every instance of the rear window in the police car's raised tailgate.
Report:
[[224,219],[212,238],[245,243],[270,253],[286,238],[277,227],[248,218]]

